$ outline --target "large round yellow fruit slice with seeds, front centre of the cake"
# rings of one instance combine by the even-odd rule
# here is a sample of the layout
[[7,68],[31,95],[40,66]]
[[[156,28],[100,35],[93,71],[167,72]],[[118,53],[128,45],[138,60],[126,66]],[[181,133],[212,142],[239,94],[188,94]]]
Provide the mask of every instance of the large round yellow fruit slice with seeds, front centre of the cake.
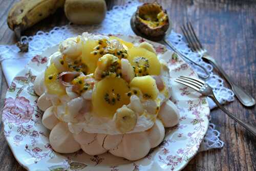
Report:
[[95,84],[92,96],[97,116],[113,118],[116,110],[130,102],[127,82],[118,77],[106,77]]

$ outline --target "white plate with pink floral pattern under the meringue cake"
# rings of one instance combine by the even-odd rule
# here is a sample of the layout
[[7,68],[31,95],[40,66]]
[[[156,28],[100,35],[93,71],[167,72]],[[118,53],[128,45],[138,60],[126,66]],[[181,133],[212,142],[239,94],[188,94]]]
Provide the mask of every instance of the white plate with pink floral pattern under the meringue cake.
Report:
[[[145,41],[137,36],[118,35],[126,41]],[[82,151],[69,155],[55,153],[49,144],[49,130],[41,123],[42,111],[34,93],[36,75],[45,70],[57,47],[36,55],[14,78],[3,109],[4,133],[17,161],[28,170],[180,170],[198,152],[208,127],[209,106],[197,92],[174,82],[179,75],[196,77],[179,56],[163,45],[151,42],[158,55],[168,60],[172,79],[171,100],[180,110],[180,122],[166,129],[164,141],[141,160],[128,161],[105,153],[89,156]]]

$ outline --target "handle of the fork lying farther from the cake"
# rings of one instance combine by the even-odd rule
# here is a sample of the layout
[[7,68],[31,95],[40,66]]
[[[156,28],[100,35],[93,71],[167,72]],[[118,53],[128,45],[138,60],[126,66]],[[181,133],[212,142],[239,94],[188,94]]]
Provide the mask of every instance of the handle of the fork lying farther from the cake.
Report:
[[253,106],[255,104],[254,98],[251,97],[250,95],[248,95],[244,90],[242,90],[241,87],[237,86],[237,84],[235,84],[231,80],[231,78],[226,74],[226,72],[218,65],[218,63],[216,62],[216,60],[214,58],[210,57],[209,55],[203,55],[202,58],[206,59],[207,61],[212,63],[212,65],[214,65],[215,68],[217,68],[219,70],[219,72],[228,81],[228,83],[230,84],[231,89],[233,90],[234,94],[238,97],[239,101],[241,101],[241,103],[243,105],[245,105],[245,106]]

